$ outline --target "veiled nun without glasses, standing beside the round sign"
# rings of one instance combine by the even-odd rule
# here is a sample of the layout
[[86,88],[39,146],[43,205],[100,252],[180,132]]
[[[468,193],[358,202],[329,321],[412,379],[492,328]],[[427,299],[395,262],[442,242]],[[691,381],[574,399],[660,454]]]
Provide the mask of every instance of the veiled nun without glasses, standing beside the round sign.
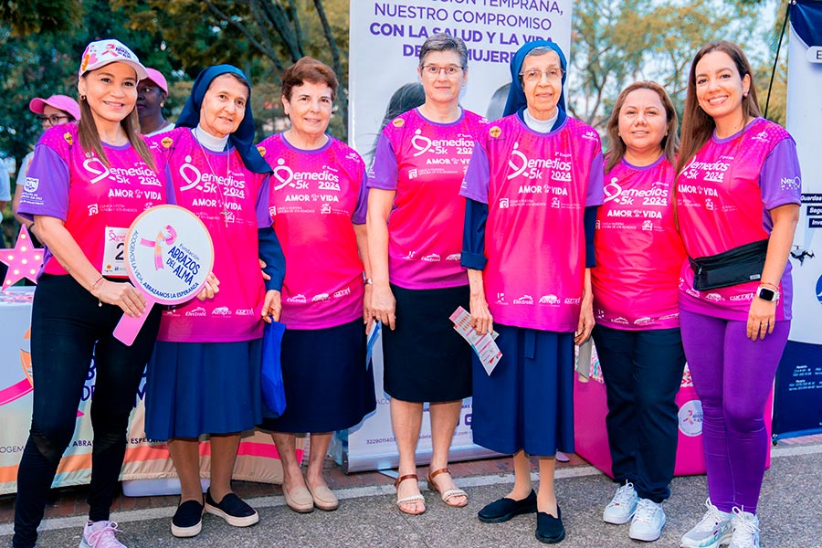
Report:
[[[269,164],[253,145],[250,93],[238,68],[205,68],[176,128],[151,142],[176,204],[204,223],[215,257],[198,299],[163,312],[146,377],[146,434],[168,440],[180,477],[171,523],[177,537],[199,533],[204,511],[237,527],[259,520],[232,492],[231,473],[240,433],[262,420],[263,324],[279,320],[285,263],[269,216]],[[205,434],[211,485],[204,497],[198,438]]]

